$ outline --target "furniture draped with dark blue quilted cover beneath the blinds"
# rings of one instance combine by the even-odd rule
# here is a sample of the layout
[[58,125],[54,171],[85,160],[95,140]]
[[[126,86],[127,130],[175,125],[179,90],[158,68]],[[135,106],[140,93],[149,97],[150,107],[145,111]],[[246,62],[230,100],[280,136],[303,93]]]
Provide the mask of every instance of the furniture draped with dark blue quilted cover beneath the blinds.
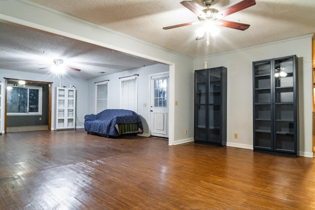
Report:
[[106,109],[97,115],[86,115],[84,128],[89,134],[105,137],[143,133],[139,115],[124,109]]

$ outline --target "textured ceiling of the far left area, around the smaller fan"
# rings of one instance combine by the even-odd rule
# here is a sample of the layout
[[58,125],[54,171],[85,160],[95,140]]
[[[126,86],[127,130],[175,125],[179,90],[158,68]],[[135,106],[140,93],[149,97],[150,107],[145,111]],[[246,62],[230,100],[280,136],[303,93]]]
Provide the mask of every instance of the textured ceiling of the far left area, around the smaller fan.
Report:
[[[94,44],[0,22],[0,68],[47,74],[62,59],[71,77],[91,79],[156,64]],[[46,68],[47,67],[47,68]],[[44,68],[44,69],[40,69]]]

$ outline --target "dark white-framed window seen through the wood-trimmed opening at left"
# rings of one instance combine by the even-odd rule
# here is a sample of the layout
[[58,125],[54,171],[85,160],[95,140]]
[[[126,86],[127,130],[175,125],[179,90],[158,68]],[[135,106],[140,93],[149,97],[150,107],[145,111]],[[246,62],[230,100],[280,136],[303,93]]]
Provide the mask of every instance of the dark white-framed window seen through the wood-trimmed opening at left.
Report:
[[42,87],[12,86],[7,87],[8,115],[41,115]]

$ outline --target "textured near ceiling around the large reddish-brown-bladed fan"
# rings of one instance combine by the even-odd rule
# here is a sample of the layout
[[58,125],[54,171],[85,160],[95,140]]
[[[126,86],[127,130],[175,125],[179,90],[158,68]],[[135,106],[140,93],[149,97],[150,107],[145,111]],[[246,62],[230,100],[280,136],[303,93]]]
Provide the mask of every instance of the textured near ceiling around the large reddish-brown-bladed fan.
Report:
[[[220,35],[196,41],[192,25],[171,30],[163,27],[197,21],[180,4],[182,0],[32,0],[135,38],[192,58],[315,32],[315,0],[256,0],[256,5],[231,14],[224,20],[251,25],[248,30],[220,27]],[[221,11],[241,0],[215,0]],[[200,7],[202,0],[193,0]]]

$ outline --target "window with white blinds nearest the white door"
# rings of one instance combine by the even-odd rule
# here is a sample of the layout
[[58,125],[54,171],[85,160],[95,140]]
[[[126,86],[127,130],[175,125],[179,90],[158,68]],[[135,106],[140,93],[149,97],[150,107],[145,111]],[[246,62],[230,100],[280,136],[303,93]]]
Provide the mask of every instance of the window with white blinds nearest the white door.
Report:
[[120,79],[120,108],[137,112],[138,77]]

